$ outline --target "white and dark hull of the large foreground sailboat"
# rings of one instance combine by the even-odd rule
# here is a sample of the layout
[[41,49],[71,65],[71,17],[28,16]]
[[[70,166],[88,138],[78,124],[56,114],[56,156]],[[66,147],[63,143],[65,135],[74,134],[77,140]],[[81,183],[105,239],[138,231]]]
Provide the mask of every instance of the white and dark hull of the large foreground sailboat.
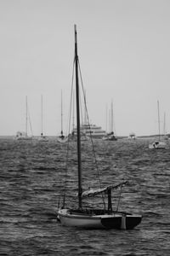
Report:
[[141,222],[142,216],[122,212],[91,215],[86,213],[71,213],[69,209],[60,209],[58,218],[64,226],[83,229],[132,230]]

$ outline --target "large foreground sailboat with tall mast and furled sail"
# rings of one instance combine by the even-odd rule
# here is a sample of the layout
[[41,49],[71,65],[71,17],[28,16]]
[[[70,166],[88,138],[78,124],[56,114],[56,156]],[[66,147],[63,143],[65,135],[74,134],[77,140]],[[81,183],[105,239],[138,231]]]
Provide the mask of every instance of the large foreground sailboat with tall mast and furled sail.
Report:
[[[64,226],[77,227],[82,229],[122,229],[128,230],[136,227],[142,219],[141,215],[127,212],[113,211],[111,203],[111,190],[122,188],[127,182],[111,184],[105,188],[82,190],[82,148],[80,136],[80,106],[79,106],[79,79],[78,79],[78,55],[77,55],[77,26],[75,25],[75,72],[76,72],[76,98],[77,98],[77,172],[78,172],[78,193],[77,207],[65,207],[65,196],[62,207],[59,207],[57,218]],[[94,195],[106,194],[108,207],[96,209],[84,207],[82,199]]]

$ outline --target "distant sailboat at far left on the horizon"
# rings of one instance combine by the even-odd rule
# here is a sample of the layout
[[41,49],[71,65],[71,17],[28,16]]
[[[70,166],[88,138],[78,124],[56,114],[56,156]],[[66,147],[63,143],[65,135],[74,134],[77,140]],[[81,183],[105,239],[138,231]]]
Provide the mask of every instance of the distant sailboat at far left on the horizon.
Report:
[[[16,139],[20,140],[20,141],[28,141],[28,140],[32,140],[32,136],[28,136],[28,121],[30,123],[30,128],[31,128],[31,120],[30,120],[30,116],[28,113],[28,100],[27,100],[27,96],[26,96],[26,132],[25,131],[17,131],[16,133]],[[31,131],[32,134],[32,131]]]

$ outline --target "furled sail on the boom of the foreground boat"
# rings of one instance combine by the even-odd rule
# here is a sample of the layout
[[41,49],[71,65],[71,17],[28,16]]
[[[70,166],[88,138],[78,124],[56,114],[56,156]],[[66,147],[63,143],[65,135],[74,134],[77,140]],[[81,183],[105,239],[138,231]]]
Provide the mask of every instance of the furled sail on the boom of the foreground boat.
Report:
[[82,192],[82,197],[92,197],[95,195],[99,195],[100,193],[107,193],[108,189],[117,189],[122,185],[125,185],[126,183],[127,181],[123,183],[119,183],[117,185],[109,185],[103,189],[89,189],[87,191]]

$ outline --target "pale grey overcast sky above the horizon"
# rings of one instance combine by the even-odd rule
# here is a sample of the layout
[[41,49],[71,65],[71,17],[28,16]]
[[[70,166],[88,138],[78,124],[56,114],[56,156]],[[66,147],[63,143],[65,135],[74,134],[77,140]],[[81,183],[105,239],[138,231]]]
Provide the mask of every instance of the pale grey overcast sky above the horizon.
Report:
[[[170,131],[170,1],[1,0],[0,135],[64,131],[70,107],[74,24],[92,123],[106,127],[113,100],[117,135],[158,131],[157,100]],[[106,107],[107,106],[107,107]],[[108,125],[107,125],[108,126]]]

